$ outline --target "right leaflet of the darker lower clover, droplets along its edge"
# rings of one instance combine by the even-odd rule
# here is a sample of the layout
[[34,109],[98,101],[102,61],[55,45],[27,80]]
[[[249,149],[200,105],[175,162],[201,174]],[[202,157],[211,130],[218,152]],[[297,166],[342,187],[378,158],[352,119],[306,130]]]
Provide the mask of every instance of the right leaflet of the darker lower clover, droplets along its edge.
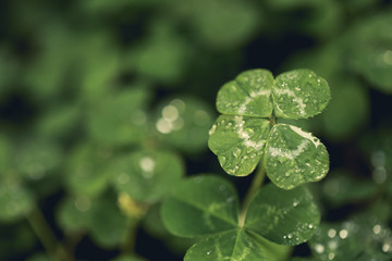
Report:
[[245,228],[281,245],[308,240],[320,222],[320,213],[305,187],[282,190],[272,184],[262,187],[253,199]]

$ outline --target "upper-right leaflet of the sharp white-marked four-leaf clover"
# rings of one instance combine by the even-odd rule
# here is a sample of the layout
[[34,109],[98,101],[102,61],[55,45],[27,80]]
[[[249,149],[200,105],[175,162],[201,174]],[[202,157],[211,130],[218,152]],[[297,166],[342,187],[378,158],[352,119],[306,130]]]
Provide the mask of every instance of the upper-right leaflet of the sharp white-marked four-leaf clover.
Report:
[[277,77],[272,97],[275,116],[308,119],[326,109],[331,94],[326,79],[309,70],[295,70]]

